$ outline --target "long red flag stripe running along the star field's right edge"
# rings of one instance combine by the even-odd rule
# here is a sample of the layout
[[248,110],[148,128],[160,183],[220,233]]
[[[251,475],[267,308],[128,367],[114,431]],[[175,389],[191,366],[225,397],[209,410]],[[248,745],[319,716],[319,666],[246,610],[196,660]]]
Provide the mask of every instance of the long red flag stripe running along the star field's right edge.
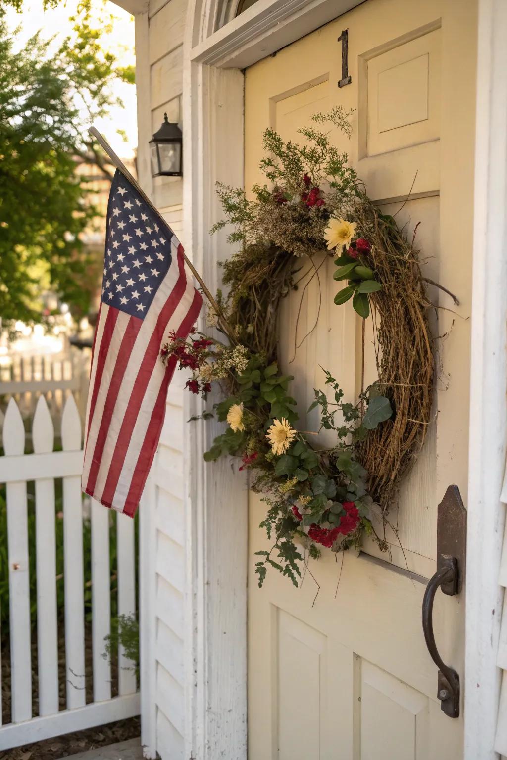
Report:
[[[141,363],[138,375],[135,378],[134,388],[128,401],[128,415],[122,422],[118,440],[116,441],[115,450],[111,458],[111,466],[107,473],[106,486],[104,486],[102,495],[99,501],[105,506],[112,505],[112,498],[115,495],[116,486],[120,473],[122,472],[123,463],[127,454],[128,445],[132,439],[132,432],[136,420],[138,419],[139,410],[143,402],[144,394],[148,382],[150,382],[151,375],[153,374],[154,366],[157,361],[160,361],[160,344],[162,342],[164,331],[166,330],[167,323],[173,316],[173,313],[185,294],[186,290],[186,274],[185,274],[185,261],[182,255],[182,246],[178,249],[178,268],[179,276],[176,285],[173,287],[169,298],[166,300],[157,319],[157,325],[154,327],[154,331],[151,334],[150,340],[147,345],[146,353]],[[97,497],[95,497],[97,498]]]

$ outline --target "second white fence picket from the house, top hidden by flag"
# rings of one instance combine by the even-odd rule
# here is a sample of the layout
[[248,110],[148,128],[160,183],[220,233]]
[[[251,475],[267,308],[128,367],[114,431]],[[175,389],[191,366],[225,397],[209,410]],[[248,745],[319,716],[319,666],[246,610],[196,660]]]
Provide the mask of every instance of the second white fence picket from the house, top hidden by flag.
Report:
[[111,576],[109,568],[109,510],[91,502],[91,582],[93,699],[111,698],[111,664],[104,657],[104,638],[111,632]]

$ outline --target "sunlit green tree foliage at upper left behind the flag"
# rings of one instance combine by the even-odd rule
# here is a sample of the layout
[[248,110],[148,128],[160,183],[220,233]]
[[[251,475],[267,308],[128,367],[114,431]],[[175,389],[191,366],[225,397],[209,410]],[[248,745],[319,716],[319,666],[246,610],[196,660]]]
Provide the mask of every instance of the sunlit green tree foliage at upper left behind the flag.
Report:
[[[13,0],[14,5],[17,0]],[[71,34],[55,48],[39,34],[18,49],[0,18],[0,315],[44,318],[40,293],[50,288],[87,311],[90,266],[80,236],[97,210],[87,203],[76,165],[94,163],[109,176],[87,128],[118,103],[114,85],[134,81],[101,47],[106,18],[93,22],[83,5]],[[109,19],[109,24],[110,24]]]

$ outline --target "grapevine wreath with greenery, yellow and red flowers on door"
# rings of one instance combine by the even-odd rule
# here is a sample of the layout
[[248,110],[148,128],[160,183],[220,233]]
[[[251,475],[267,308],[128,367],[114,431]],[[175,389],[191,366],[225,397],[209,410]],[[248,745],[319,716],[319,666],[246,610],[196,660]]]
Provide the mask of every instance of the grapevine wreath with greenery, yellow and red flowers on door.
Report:
[[[261,169],[269,185],[255,185],[252,200],[217,184],[225,218],[211,232],[230,223],[228,240],[239,245],[221,264],[228,295],[219,291],[208,311],[207,325],[220,340],[172,335],[161,352],[164,361],[174,355],[180,369],[191,370],[192,393],[205,399],[214,383],[220,388],[222,400],[201,416],[216,414],[227,429],[204,458],[239,457],[239,470],[249,470],[251,487],[265,495],[261,527],[273,545],[258,552],[260,585],[268,565],[297,585],[302,544],[316,559],[323,547],[358,547],[367,534],[387,550],[372,518],[385,524],[432,408],[430,304],[415,233],[408,240],[395,218],[372,204],[347,154],[318,128],[330,124],[350,137],[349,116],[340,107],[316,114],[299,130],[303,146],[266,129]],[[315,389],[310,408],[319,408],[321,429],[333,430],[336,443],[316,451],[309,433],[296,428],[293,377],[277,362],[277,323],[280,299],[298,288],[302,266],[310,275],[318,271],[323,253],[334,258],[334,279],[344,286],[337,284],[337,308],[352,299],[363,325],[372,318],[378,380],[352,404],[337,378],[323,373],[325,388]]]

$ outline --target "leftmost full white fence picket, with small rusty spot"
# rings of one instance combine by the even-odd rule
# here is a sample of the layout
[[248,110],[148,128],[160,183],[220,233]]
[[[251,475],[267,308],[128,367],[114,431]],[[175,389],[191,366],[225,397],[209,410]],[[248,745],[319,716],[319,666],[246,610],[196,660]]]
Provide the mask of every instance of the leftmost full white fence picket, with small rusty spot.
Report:
[[[24,453],[23,420],[12,398],[5,413],[3,443],[6,456]],[[32,717],[27,483],[8,483],[6,490],[12,721],[21,723]]]

